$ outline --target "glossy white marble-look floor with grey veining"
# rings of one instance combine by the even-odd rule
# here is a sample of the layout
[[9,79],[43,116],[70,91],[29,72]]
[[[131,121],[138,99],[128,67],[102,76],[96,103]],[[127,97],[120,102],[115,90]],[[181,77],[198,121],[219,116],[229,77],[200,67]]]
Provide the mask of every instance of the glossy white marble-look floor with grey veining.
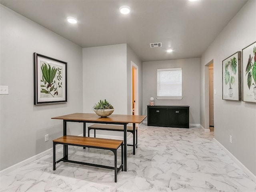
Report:
[[[128,171],[60,162],[52,153],[0,178],[1,192],[256,192],[256,184],[200,128],[141,125]],[[69,147],[69,159],[113,166],[113,153]],[[62,149],[57,150],[58,158]],[[120,159],[120,152],[119,152]]]

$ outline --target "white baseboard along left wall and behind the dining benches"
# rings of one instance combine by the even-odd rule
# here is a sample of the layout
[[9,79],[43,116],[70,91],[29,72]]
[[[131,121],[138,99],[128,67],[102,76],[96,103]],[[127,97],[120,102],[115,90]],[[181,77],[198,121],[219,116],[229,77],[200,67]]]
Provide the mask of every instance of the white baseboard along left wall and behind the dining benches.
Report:
[[[80,134],[79,136],[83,136],[83,134]],[[90,136],[94,137],[94,134],[90,134]],[[108,138],[108,139],[123,140],[123,137],[121,137],[121,136],[109,136],[109,135],[97,134],[97,137],[98,138]],[[132,134],[128,135],[127,140],[130,139],[130,138],[132,138]],[[59,149],[59,148],[62,148],[61,144],[56,145],[56,150]],[[30,158],[27,158],[27,159],[23,160],[22,162],[18,162],[18,163],[14,164],[14,165],[12,165],[12,166],[10,166],[8,168],[5,168],[5,169],[0,171],[0,176],[4,176],[4,175],[6,175],[6,174],[8,174],[8,173],[18,169],[18,168],[20,168],[20,167],[30,163],[30,162],[33,162],[34,160],[37,160],[37,159],[39,159],[39,158],[41,158],[41,157],[43,157],[43,156],[45,156],[45,155],[47,155],[47,154],[49,154],[51,152],[52,152],[52,148],[50,148],[48,150],[45,150],[42,153],[36,154],[36,155],[34,155],[34,156],[30,157]]]

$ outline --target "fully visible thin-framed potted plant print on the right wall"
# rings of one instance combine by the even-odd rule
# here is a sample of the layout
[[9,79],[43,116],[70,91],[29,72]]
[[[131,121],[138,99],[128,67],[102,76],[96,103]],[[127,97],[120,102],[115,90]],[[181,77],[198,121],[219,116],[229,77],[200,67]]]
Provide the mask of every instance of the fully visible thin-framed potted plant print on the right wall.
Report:
[[241,52],[222,61],[222,99],[242,100],[241,92]]

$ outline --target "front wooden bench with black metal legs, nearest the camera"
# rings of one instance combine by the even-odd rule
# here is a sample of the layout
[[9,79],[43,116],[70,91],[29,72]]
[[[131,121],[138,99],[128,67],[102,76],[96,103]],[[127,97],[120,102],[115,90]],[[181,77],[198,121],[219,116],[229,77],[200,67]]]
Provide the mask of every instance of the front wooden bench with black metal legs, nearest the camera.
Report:
[[[88,138],[88,137],[82,137],[82,136],[66,135],[66,136],[62,136],[58,139],[55,139],[52,142],[53,142],[53,170],[56,169],[56,164],[60,161],[89,165],[89,166],[96,166],[96,167],[101,167],[101,168],[107,168],[107,169],[112,169],[115,171],[115,182],[117,182],[118,172],[120,172],[121,169],[122,169],[122,171],[124,170],[124,158],[123,158],[124,152],[123,152],[123,141],[122,140]],[[68,147],[66,148],[66,156],[64,156],[60,160],[56,161],[56,156],[55,156],[56,155],[56,144],[111,150],[112,152],[114,152],[114,161],[115,161],[114,167],[68,160]],[[120,146],[121,146],[122,162],[121,162],[120,167],[118,168],[117,167],[117,150]]]

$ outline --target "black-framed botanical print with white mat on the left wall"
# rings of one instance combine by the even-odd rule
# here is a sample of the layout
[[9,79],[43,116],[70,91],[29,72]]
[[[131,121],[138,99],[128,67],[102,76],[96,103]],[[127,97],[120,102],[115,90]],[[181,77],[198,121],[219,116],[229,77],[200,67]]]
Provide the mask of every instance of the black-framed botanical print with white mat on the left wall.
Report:
[[67,102],[67,63],[34,53],[34,104]]

